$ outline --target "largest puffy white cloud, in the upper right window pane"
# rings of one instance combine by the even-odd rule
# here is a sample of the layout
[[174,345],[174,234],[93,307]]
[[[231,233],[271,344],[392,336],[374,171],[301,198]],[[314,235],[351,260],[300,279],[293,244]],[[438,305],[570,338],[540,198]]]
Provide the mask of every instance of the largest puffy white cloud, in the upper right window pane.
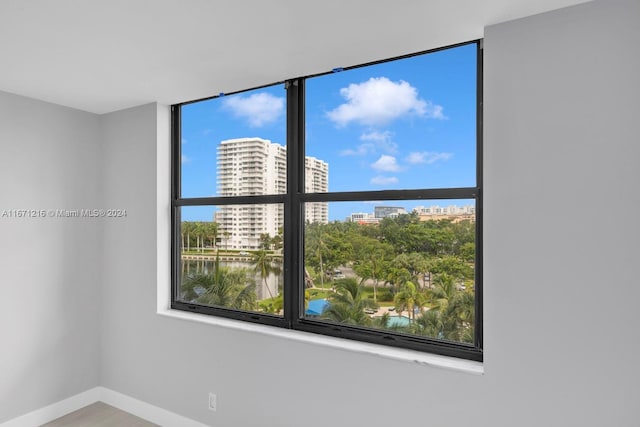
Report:
[[444,118],[441,106],[419,98],[418,90],[403,80],[393,82],[386,77],[372,77],[340,89],[340,95],[347,102],[327,113],[338,126],[351,122],[385,125],[406,115]]

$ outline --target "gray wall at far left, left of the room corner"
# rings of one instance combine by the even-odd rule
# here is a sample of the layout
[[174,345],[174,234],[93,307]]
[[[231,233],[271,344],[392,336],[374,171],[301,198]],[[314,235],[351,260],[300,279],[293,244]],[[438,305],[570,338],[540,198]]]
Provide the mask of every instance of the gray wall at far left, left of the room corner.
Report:
[[99,208],[97,116],[0,92],[0,423],[98,385],[101,221],[8,218]]

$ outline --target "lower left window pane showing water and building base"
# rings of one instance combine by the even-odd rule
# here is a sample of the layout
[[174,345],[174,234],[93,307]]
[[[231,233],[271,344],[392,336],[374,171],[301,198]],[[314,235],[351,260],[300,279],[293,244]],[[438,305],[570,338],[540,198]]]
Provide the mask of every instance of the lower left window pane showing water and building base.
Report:
[[179,300],[283,312],[282,204],[181,209]]

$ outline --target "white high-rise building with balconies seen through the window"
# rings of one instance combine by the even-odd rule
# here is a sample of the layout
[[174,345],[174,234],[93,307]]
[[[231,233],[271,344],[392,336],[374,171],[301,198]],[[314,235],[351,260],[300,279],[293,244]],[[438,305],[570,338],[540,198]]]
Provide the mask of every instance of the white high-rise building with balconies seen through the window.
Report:
[[[306,189],[310,192],[328,190],[328,165],[305,159]],[[287,191],[287,149],[262,138],[228,139],[218,145],[218,195],[255,196],[284,194]],[[326,203],[306,206],[305,219],[311,222],[328,220]],[[223,248],[260,249],[260,235],[278,234],[284,225],[284,206],[278,203],[256,205],[225,205],[216,213],[220,224]]]

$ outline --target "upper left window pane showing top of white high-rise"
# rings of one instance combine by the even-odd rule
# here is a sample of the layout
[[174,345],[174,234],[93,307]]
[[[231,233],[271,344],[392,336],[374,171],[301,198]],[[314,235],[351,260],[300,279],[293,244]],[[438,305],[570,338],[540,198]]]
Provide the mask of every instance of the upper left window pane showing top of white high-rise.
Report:
[[286,192],[283,85],[182,107],[182,197]]

